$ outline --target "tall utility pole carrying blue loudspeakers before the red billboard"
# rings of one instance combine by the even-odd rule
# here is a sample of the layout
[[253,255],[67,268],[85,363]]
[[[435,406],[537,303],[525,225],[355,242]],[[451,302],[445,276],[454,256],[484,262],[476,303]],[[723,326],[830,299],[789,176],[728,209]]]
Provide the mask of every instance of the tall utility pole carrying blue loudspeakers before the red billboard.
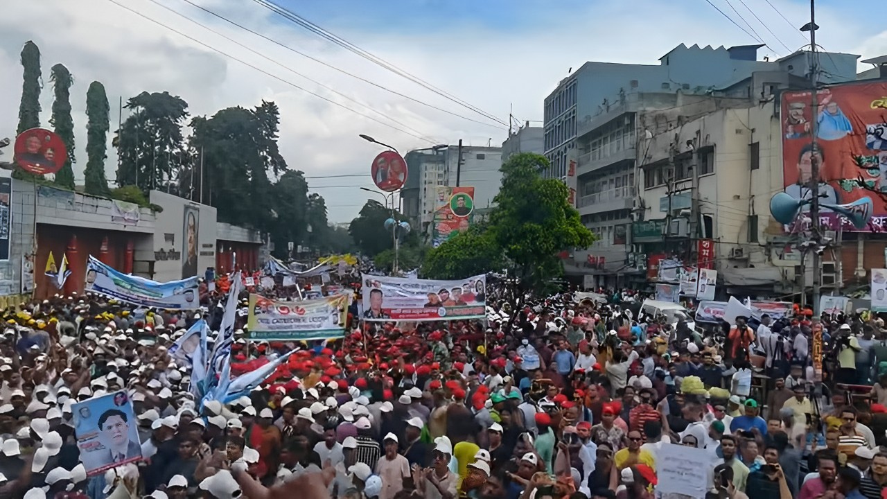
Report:
[[[810,0],[810,24],[805,28],[810,29],[810,86],[812,87],[812,119],[810,122],[810,134],[812,137],[812,151],[810,154],[810,172],[811,172],[811,202],[810,202],[810,218],[812,220],[811,231],[813,238],[817,243],[817,247],[813,248],[812,264],[813,264],[813,293],[812,304],[813,316],[820,313],[820,287],[822,286],[822,264],[820,262],[820,253],[818,250],[820,239],[820,149],[816,143],[816,133],[819,129],[819,100],[816,98],[816,87],[819,75],[819,61],[816,55],[816,0]],[[804,28],[802,28],[802,31]],[[843,276],[842,276],[843,278]]]

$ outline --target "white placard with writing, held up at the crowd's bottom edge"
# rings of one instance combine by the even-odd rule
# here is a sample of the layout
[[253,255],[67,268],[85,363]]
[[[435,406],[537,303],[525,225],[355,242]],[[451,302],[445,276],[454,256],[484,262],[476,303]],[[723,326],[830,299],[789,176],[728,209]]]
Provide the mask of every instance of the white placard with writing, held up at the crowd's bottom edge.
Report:
[[701,448],[664,444],[656,450],[656,497],[704,499],[711,477],[711,455]]

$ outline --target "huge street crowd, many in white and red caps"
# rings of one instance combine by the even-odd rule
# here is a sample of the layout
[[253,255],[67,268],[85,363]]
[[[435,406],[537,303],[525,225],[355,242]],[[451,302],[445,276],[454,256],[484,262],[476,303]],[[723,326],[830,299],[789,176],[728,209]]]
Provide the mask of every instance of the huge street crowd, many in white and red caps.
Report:
[[[823,317],[820,373],[807,311],[701,329],[571,292],[486,295],[480,320],[351,313],[344,338],[311,345],[249,342],[240,313],[232,373],[300,350],[227,403],[198,400],[192,359],[170,354],[200,319],[211,347],[219,297],[197,313],[97,295],[5,311],[0,497],[646,499],[666,446],[708,456],[710,497],[887,497],[882,320]],[[106,421],[137,428],[138,448],[88,476],[72,406],[114,393],[134,420]]]

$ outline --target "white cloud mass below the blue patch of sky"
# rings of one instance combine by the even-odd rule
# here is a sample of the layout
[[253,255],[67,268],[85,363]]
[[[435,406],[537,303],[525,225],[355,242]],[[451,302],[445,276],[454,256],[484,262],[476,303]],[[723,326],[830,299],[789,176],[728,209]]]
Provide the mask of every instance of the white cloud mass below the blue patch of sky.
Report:
[[[356,104],[177,17],[149,0],[117,1],[226,54],[247,60],[271,75],[348,107],[358,108]],[[279,60],[286,67],[310,75],[351,99],[381,110],[398,122],[420,131],[420,135],[434,143],[454,143],[465,139],[469,144],[486,145],[488,139],[492,139],[493,144],[499,144],[506,138],[504,130],[461,120],[398,98],[247,34],[184,2],[159,1],[271,59]],[[803,24],[809,13],[801,3],[772,1],[790,20],[800,20],[799,24]],[[790,33],[788,23],[781,20],[764,0],[747,0],[746,3],[790,47],[796,48],[796,45],[803,43],[803,38]],[[414,83],[283,23],[280,18],[274,17],[272,20],[270,12],[252,2],[214,0],[201,4],[336,67],[437,107],[485,121],[479,115]],[[532,8],[538,9],[538,6]],[[643,12],[643,15],[639,16],[638,12]],[[748,12],[744,13],[747,19],[755,22]],[[865,20],[854,18],[852,12],[823,8],[820,18],[820,44],[828,50],[866,51],[869,53],[863,55],[868,57],[887,51],[887,36],[878,36],[876,29],[868,30],[871,37],[860,35],[865,32],[860,27]],[[316,21],[337,31],[333,26],[326,26],[324,20]],[[409,25],[407,19],[403,21],[404,26]],[[392,26],[396,25],[395,22]],[[781,49],[781,45],[765,34],[763,28],[755,26],[774,49]],[[599,2],[581,7],[574,5],[571,9],[547,9],[538,12],[536,28],[532,29],[506,31],[479,28],[472,23],[447,30],[430,29],[428,33],[418,32],[415,28],[408,33],[399,33],[393,28],[384,32],[358,32],[352,29],[340,35],[501,119],[507,118],[508,108],[513,104],[515,116],[532,120],[541,119],[542,100],[567,74],[567,68],[576,69],[585,60],[650,64],[680,43],[751,43],[748,36],[703,3],[675,5],[652,0]],[[274,100],[281,111],[281,150],[292,168],[304,170],[309,176],[367,172],[361,178],[310,180],[310,184],[315,186],[372,186],[368,166],[380,149],[358,139],[358,133],[388,142],[401,152],[430,145],[427,141],[369,121],[209,51],[107,0],[7,0],[4,3],[4,16],[0,17],[0,88],[5,91],[0,99],[0,137],[12,137],[15,133],[21,88],[19,52],[28,39],[33,39],[43,54],[45,86],[41,101],[44,125],[49,121],[51,108],[50,67],[62,62],[75,75],[72,105],[77,131],[78,164],[75,175],[78,179],[82,178],[82,168],[86,163],[85,95],[89,83],[94,80],[106,86],[113,110],[112,129],[116,124],[119,97],[122,96],[125,101],[140,91],[169,91],[181,96],[189,103],[192,115],[211,115],[224,107],[251,107],[261,99]],[[388,122],[373,111],[365,108],[359,110]],[[394,126],[403,128],[403,125]],[[113,179],[114,155],[110,147],[109,152],[112,157],[107,173]],[[354,217],[367,197],[356,187],[325,188],[318,192],[326,198],[327,205],[331,207],[330,219],[336,222]]]

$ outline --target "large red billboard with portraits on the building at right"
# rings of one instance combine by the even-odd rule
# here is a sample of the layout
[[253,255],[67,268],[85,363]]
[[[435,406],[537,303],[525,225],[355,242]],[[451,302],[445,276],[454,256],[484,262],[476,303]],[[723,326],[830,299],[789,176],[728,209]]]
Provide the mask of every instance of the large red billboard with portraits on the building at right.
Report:
[[[868,197],[875,203],[871,222],[858,229],[828,207],[820,225],[845,231],[887,228],[887,83],[845,83],[816,92],[816,151],[812,147],[812,91],[782,96],[782,173],[785,192],[811,199],[812,162],[819,159],[820,203],[846,204]],[[865,188],[860,186],[862,183]],[[874,192],[873,192],[874,191]],[[809,211],[805,205],[803,211]]]

